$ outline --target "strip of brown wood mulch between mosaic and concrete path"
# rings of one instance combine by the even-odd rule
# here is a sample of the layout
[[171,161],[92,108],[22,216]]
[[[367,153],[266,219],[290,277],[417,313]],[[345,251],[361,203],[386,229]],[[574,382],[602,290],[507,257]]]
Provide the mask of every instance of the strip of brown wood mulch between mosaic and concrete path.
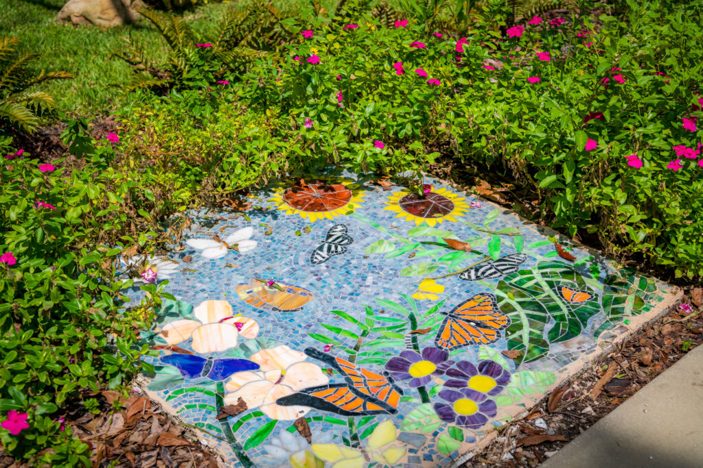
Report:
[[513,420],[498,429],[496,439],[463,466],[535,467],[554,455],[700,345],[701,312],[703,288],[692,288],[669,314],[555,389],[522,420]]

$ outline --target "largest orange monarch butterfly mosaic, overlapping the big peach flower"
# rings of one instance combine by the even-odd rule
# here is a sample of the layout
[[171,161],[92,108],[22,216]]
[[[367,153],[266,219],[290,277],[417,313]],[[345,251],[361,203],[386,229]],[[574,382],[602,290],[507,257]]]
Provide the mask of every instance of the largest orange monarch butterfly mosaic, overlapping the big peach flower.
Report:
[[276,404],[309,406],[342,416],[398,413],[396,407],[403,390],[395,385],[387,372],[377,374],[314,348],[305,349],[305,354],[331,366],[347,382],[304,389],[276,400]]

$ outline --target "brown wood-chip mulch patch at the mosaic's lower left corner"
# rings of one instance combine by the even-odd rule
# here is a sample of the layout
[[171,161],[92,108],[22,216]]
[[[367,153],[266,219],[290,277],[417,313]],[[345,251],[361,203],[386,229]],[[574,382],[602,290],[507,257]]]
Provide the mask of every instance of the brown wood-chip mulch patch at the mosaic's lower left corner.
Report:
[[[173,422],[160,406],[131,393],[119,401],[114,391],[93,395],[101,402],[100,413],[86,413],[83,406],[69,408],[63,415],[73,435],[91,450],[91,467],[118,468],[217,468],[218,457],[191,435],[190,429]],[[0,451],[0,468],[25,468]]]

